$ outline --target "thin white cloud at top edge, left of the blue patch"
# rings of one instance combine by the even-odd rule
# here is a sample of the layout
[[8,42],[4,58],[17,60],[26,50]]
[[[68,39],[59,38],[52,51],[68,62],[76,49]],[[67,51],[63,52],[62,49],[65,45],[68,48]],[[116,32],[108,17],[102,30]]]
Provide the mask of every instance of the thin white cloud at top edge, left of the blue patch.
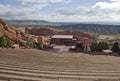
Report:
[[69,3],[71,0],[19,0],[23,7],[32,8],[34,10],[40,10],[53,3]]

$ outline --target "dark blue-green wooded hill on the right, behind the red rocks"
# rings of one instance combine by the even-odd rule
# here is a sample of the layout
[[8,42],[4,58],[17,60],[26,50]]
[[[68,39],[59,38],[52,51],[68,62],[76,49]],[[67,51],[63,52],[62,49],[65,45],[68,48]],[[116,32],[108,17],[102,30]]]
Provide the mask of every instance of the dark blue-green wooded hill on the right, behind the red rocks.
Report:
[[120,34],[120,25],[99,25],[99,24],[71,24],[61,25],[52,28],[61,30],[80,30],[83,32],[103,33],[103,34]]

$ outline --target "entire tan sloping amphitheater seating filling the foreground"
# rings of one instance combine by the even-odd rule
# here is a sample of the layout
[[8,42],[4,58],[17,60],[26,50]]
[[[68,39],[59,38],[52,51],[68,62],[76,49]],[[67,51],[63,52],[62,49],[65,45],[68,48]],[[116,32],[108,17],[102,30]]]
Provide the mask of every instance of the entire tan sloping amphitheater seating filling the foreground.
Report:
[[0,81],[120,81],[120,57],[0,49]]

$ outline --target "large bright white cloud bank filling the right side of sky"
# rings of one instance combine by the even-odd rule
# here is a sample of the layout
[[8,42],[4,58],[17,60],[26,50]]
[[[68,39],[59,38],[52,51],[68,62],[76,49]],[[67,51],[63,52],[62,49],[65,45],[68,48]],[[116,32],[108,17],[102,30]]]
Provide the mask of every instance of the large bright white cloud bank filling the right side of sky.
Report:
[[98,2],[91,7],[63,7],[56,10],[56,13],[66,17],[75,17],[78,19],[78,21],[118,21],[120,19],[120,0],[111,0],[110,2]]

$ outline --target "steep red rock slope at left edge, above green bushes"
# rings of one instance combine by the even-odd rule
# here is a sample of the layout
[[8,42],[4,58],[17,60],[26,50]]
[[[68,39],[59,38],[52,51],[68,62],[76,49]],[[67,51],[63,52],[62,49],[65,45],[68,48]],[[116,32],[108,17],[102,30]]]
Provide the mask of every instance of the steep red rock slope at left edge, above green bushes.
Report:
[[0,18],[0,36],[6,36],[11,41],[19,40],[22,42],[32,41],[25,33],[15,30],[12,26],[5,23],[3,19]]

